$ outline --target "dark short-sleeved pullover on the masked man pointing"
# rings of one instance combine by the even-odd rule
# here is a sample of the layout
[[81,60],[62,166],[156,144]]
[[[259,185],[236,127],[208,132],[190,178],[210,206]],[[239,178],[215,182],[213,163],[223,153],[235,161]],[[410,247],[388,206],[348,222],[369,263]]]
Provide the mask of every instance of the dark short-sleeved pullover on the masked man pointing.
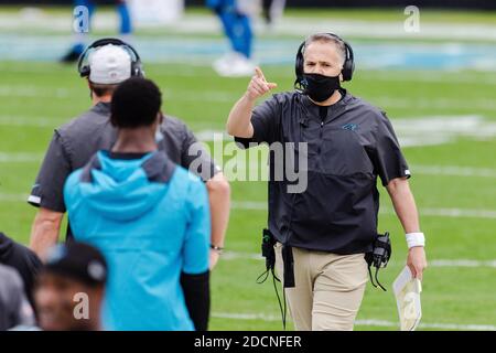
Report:
[[[344,89],[342,95],[321,117],[308,96],[277,94],[254,109],[252,138],[236,138],[244,148],[270,146],[269,229],[283,245],[342,255],[370,252],[377,178],[387,185],[410,176],[386,114]],[[290,189],[298,184],[300,190]]]

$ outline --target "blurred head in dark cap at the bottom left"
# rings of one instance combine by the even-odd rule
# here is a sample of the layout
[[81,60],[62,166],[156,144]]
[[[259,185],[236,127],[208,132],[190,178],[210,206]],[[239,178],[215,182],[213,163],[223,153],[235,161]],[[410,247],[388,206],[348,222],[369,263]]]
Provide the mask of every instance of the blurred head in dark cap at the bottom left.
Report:
[[46,331],[101,330],[107,263],[93,246],[71,242],[51,248],[34,299]]

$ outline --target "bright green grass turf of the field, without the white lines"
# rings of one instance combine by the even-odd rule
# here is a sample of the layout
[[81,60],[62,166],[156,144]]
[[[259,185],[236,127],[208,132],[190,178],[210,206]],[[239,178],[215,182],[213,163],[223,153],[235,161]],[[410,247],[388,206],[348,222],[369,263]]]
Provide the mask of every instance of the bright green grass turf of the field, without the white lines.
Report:
[[[342,12],[342,10],[339,10]],[[338,17],[339,11],[334,14]],[[349,18],[370,20],[375,12],[347,12]],[[290,11],[290,15],[293,12]],[[315,12],[311,15],[319,17]],[[382,13],[382,17],[385,14]],[[474,15],[477,17],[478,14]],[[386,15],[387,18],[387,15]],[[384,18],[384,20],[387,20]],[[484,18],[481,14],[481,18]],[[462,13],[453,21],[467,20]],[[467,20],[468,21],[468,20]],[[468,21],[470,22],[470,21]],[[291,66],[263,67],[266,77],[291,89]],[[246,78],[220,78],[208,66],[147,64],[147,74],[164,93],[164,110],[181,117],[196,132],[224,128],[234,101],[247,86]],[[72,66],[55,63],[0,62],[0,229],[28,243],[35,210],[22,199],[30,192],[53,128],[89,106],[88,90]],[[380,105],[395,125],[396,119],[423,116],[478,115],[496,121],[495,72],[362,71],[346,87],[357,96]],[[406,101],[407,104],[397,104]],[[420,122],[419,122],[420,124]],[[494,260],[495,217],[446,217],[422,215],[427,208],[496,210],[495,178],[416,173],[414,165],[457,165],[495,169],[495,139],[459,138],[444,145],[405,148],[412,165],[411,188],[420,208],[422,229],[428,237],[428,257],[435,259]],[[12,156],[28,160],[12,161]],[[233,200],[266,201],[262,182],[233,182]],[[381,206],[391,208],[381,191]],[[231,211],[226,247],[231,252],[259,252],[263,210]],[[389,229],[393,240],[393,263],[381,270],[388,287],[406,259],[403,232],[391,214],[381,214],[379,229]],[[263,263],[255,259],[220,260],[212,276],[212,330],[280,330],[279,309],[272,285],[255,282]],[[423,322],[495,324],[496,269],[494,267],[431,267],[423,281]],[[240,320],[226,314],[266,314],[270,320]],[[273,319],[276,318],[276,319]],[[272,320],[273,319],[273,320]],[[367,286],[358,320],[397,321],[396,303]],[[357,330],[395,330],[395,325],[360,324]],[[428,329],[428,328],[427,328]]]

